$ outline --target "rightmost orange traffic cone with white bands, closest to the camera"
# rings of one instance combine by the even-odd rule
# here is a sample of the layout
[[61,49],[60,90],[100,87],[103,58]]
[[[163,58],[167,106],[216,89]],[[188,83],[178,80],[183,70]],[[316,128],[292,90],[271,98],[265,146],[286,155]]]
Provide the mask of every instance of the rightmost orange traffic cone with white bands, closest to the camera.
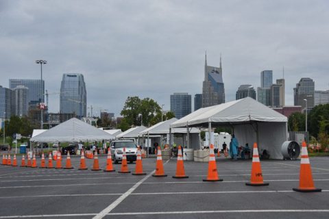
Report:
[[300,159],[300,187],[293,188],[296,192],[321,192],[314,187],[310,159],[308,159],[306,142],[302,143],[302,157]]

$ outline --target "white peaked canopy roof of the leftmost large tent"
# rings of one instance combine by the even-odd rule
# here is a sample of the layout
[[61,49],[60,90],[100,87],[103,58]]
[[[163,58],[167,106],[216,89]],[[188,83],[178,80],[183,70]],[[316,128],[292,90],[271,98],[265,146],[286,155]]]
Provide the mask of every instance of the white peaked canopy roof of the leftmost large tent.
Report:
[[110,139],[114,139],[114,136],[77,118],[71,118],[31,138],[31,142],[84,142]]

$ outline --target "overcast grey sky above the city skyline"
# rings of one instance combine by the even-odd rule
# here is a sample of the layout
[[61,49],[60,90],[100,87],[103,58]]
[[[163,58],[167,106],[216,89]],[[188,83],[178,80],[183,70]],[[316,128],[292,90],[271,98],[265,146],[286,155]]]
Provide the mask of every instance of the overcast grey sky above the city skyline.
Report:
[[[170,110],[173,92],[202,93],[208,65],[223,60],[226,101],[260,71],[286,79],[286,105],[301,77],[329,89],[329,1],[3,1],[0,85],[39,79],[60,91],[63,73],[82,73],[87,105],[119,116],[127,96]],[[193,101],[192,101],[193,102]],[[193,105],[193,103],[192,103]],[[49,95],[50,112],[59,95]],[[88,110],[90,112],[90,110]]]

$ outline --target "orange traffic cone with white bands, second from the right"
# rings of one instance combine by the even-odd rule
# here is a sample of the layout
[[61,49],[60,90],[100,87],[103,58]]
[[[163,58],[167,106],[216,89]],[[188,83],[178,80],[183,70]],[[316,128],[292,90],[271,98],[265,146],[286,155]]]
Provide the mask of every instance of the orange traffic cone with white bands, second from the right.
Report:
[[264,183],[263,181],[262,167],[260,166],[256,142],[254,143],[254,151],[252,152],[252,177],[250,178],[250,183],[245,183],[245,185],[269,185],[269,183]]

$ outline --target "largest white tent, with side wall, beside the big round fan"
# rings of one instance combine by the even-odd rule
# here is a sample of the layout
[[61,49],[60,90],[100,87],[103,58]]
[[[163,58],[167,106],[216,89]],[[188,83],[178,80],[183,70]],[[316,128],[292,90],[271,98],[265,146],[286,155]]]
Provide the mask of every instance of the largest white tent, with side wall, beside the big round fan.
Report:
[[287,117],[247,97],[220,105],[201,108],[175,123],[175,127],[232,127],[240,145],[258,142],[260,153],[267,150],[270,158],[282,159],[281,146],[287,141]]

